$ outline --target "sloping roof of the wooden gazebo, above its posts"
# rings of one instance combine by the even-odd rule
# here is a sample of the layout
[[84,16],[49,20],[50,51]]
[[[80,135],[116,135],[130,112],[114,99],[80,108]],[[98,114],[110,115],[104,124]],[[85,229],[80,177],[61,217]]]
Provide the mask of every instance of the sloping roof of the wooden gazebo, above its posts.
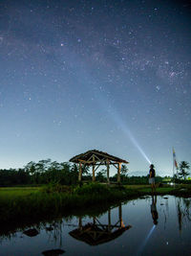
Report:
[[117,163],[125,163],[125,164],[129,163],[126,160],[118,158],[117,156],[114,156],[107,152],[96,151],[96,150],[86,151],[84,153],[77,154],[74,157],[72,157],[69,161],[74,163],[86,162],[86,161],[92,162],[91,159],[93,155],[95,156],[96,162],[100,162],[108,159],[109,161],[117,162]]

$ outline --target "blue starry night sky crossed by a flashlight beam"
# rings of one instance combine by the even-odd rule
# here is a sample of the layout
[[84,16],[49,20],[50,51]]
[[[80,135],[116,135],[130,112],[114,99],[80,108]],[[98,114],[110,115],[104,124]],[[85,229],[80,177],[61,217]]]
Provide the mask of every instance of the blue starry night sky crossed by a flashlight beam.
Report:
[[191,162],[191,4],[0,1],[0,168],[107,151]]

